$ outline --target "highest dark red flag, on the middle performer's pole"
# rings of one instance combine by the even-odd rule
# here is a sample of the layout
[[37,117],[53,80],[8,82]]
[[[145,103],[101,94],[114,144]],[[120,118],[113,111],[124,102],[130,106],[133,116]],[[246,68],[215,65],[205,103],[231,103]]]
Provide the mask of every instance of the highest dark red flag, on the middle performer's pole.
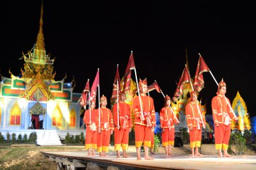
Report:
[[135,64],[134,64],[133,54],[131,52],[129,62],[127,64],[127,67],[124,73],[124,81],[123,81],[124,89],[123,90],[125,91],[130,90],[131,88],[131,78],[132,78],[131,70],[134,68],[135,68]]

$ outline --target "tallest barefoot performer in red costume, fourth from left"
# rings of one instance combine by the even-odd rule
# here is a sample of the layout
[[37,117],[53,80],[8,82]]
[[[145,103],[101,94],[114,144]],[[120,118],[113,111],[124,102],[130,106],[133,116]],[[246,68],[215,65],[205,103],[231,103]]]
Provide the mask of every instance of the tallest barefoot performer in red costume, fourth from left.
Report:
[[142,144],[144,146],[145,159],[153,159],[148,155],[148,148],[151,146],[152,135],[154,135],[154,128],[156,127],[154,100],[152,97],[147,96],[147,80],[140,80],[139,88],[140,97],[136,96],[133,101],[137,159],[141,160],[140,147]]

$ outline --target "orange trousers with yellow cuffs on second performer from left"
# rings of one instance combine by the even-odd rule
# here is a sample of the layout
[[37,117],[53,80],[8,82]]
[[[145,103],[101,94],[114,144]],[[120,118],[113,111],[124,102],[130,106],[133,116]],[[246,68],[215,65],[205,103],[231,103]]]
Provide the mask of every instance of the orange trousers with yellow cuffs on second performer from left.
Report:
[[110,131],[97,132],[97,152],[108,152],[110,143]]

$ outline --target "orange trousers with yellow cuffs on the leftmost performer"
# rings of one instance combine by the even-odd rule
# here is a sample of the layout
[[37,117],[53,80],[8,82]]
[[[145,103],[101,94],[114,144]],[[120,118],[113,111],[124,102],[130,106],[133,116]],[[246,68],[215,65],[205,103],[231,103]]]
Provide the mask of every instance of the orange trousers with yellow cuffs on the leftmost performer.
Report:
[[97,149],[97,131],[91,131],[90,127],[86,127],[85,131],[85,149]]

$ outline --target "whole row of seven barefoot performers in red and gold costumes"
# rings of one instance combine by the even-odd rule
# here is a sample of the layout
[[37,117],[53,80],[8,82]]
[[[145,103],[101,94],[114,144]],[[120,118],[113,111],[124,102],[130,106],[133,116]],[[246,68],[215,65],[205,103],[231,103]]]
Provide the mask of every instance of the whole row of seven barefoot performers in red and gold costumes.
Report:
[[[139,82],[140,96],[136,96],[133,101],[134,111],[134,132],[137,159],[141,160],[140,148],[143,145],[145,151],[145,159],[153,159],[148,155],[148,148],[154,146],[154,128],[156,127],[156,114],[154,108],[154,100],[147,96],[148,86],[147,80]],[[217,96],[212,99],[212,116],[215,124],[215,145],[219,150],[219,157],[231,157],[227,153],[228,141],[230,138],[230,120],[237,120],[232,111],[228,108],[225,100],[226,84],[224,81],[219,83]],[[198,152],[201,145],[202,127],[205,128],[205,118],[198,107],[197,96],[195,92],[191,92],[190,101],[186,105],[186,118],[189,127],[189,140],[191,146],[191,156],[202,156]],[[113,113],[106,108],[108,101],[105,96],[100,97],[100,117],[99,109],[95,109],[95,101],[91,101],[90,110],[84,113],[84,124],[86,124],[86,140],[85,148],[88,155],[95,155],[95,150],[99,152],[100,157],[106,157],[109,150],[110,135],[115,131],[115,151],[116,157],[120,157],[120,148],[123,150],[123,157],[127,158],[127,148],[129,142],[129,132],[132,129],[132,118],[130,105],[125,103],[124,92],[120,93],[118,105],[113,106]],[[175,117],[170,106],[171,99],[166,96],[164,99],[164,107],[160,111],[160,122],[162,128],[162,146],[165,147],[166,155],[173,155],[172,146],[175,138],[175,124],[179,124],[179,120]],[[141,112],[143,110],[143,112]],[[143,113],[143,114],[142,114]],[[99,121],[100,118],[100,121]],[[99,124],[100,122],[100,124]],[[92,150],[91,150],[92,148]],[[223,155],[221,152],[223,149]]]

